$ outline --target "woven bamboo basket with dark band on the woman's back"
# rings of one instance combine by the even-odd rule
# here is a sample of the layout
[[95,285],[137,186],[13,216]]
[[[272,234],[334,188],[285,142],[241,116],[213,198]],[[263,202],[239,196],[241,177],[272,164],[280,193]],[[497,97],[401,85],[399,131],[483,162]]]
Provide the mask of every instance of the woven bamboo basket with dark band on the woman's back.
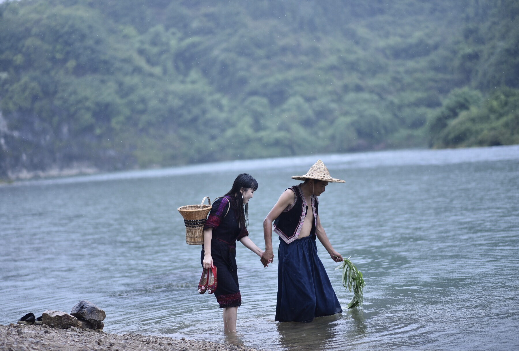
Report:
[[[209,205],[204,205],[206,199]],[[189,245],[203,244],[203,226],[206,225],[207,215],[211,211],[211,199],[206,196],[200,205],[187,205],[177,208],[186,225],[186,242]]]

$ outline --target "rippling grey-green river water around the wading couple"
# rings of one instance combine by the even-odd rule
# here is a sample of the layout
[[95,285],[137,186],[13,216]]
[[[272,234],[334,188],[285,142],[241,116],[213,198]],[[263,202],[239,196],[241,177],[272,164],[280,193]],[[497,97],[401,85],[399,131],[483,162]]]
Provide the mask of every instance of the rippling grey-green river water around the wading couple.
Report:
[[[277,260],[237,247],[237,339],[196,291],[200,247],[176,208],[215,198],[236,175],[260,183],[250,236],[290,179],[321,158],[332,177],[320,217],[367,287],[362,309],[311,323],[274,321]],[[279,240],[274,239],[275,250]],[[318,242],[343,309],[351,294]],[[276,253],[277,251],[275,251]],[[519,348],[519,146],[235,161],[0,186],[0,323],[81,299],[105,331],[238,342],[262,349]]]

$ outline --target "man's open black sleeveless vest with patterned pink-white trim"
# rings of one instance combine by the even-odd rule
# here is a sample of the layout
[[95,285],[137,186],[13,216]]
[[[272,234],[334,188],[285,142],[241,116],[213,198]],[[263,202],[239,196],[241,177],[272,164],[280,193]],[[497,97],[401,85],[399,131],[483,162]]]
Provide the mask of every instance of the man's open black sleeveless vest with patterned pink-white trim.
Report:
[[[305,196],[301,190],[301,184],[294,185],[289,188],[294,192],[295,201],[292,205],[285,208],[278,218],[274,221],[274,232],[276,232],[286,244],[290,244],[292,241],[297,239],[299,232],[303,227],[308,206],[306,204]],[[319,200],[317,196],[311,195],[312,198],[312,212],[313,212],[313,225],[312,231],[315,233],[317,227],[317,213],[319,210]]]

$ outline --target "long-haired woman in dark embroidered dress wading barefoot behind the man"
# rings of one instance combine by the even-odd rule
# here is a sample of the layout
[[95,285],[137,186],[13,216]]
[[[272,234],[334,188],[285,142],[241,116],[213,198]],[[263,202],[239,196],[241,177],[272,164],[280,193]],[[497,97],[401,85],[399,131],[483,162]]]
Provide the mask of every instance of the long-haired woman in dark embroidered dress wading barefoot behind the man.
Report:
[[213,203],[203,231],[200,261],[203,268],[216,267],[216,301],[223,308],[224,330],[236,332],[236,314],[241,306],[236,266],[236,240],[261,257],[262,251],[247,231],[249,200],[258,188],[250,174],[236,177],[233,188]]

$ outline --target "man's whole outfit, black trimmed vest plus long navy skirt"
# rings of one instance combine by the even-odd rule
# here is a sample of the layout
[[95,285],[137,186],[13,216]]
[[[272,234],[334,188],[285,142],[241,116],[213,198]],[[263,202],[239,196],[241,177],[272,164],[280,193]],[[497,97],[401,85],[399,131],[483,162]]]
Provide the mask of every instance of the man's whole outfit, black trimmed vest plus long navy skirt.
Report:
[[308,206],[301,184],[291,189],[295,201],[275,222],[280,238],[276,320],[309,322],[315,317],[341,313],[343,309],[317,255],[317,197],[312,195],[314,221],[310,236],[298,239]]

